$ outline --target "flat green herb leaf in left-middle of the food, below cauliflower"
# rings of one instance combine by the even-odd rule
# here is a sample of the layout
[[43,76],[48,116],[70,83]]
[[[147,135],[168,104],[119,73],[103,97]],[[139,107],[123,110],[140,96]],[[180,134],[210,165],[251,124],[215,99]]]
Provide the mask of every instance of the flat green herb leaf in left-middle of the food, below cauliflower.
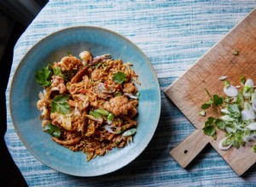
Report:
[[70,112],[70,105],[67,103],[68,95],[57,95],[51,101],[51,112],[60,112],[65,115]]

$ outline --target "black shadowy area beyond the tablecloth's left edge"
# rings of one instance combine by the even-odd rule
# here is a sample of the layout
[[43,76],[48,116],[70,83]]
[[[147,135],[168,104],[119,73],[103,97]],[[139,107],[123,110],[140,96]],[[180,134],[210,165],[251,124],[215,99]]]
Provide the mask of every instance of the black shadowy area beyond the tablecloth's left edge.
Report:
[[15,43],[48,0],[0,0],[0,186],[27,186],[20,170],[9,155],[3,136],[6,132],[5,90],[13,61]]

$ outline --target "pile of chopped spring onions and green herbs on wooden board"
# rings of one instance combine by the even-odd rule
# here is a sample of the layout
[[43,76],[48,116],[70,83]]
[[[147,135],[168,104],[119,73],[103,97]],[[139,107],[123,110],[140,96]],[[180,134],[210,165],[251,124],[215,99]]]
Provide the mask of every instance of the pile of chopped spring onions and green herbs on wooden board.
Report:
[[[216,116],[209,116],[205,122],[203,131],[206,135],[217,138],[217,128],[224,130],[226,136],[218,144],[219,149],[227,150],[231,146],[239,149],[245,144],[256,143],[256,94],[252,79],[240,79],[241,86],[234,87],[228,81],[224,81],[224,94],[220,97],[213,96],[207,91],[209,100],[201,105],[201,109],[207,110],[210,107],[216,112]],[[241,88],[241,90],[237,90]],[[256,152],[256,145],[253,147]]]

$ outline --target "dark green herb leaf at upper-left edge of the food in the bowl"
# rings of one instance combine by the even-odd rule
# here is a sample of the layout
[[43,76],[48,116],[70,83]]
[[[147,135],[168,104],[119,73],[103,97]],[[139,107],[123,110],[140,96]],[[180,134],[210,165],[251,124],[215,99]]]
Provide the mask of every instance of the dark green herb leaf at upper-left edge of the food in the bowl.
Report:
[[49,85],[51,84],[50,82],[51,75],[52,75],[52,72],[49,70],[49,68],[44,67],[36,73],[36,81],[38,82],[39,85],[43,87],[49,87]]

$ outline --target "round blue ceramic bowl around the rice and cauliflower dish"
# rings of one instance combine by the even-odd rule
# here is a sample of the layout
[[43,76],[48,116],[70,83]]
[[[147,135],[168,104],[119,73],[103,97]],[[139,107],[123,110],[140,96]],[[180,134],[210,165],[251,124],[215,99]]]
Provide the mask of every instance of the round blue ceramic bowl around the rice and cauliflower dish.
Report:
[[[133,143],[122,149],[113,149],[105,156],[87,162],[86,155],[73,152],[56,144],[44,133],[37,109],[38,92],[35,72],[72,52],[90,50],[94,56],[111,54],[113,59],[133,63],[133,69],[142,82],[140,92],[137,133]],[[97,176],[111,173],[139,156],[154,135],[160,117],[160,87],[154,69],[143,52],[131,41],[106,29],[78,26],[44,37],[20,61],[9,93],[12,120],[21,141],[33,156],[53,169],[75,176]]]

